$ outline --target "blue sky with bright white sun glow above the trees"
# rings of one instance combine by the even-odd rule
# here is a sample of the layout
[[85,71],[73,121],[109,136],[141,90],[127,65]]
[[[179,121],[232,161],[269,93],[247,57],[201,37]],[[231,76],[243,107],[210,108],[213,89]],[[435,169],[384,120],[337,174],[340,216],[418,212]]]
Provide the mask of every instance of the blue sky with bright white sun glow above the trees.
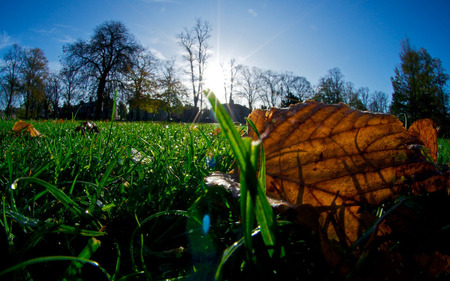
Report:
[[219,96],[220,64],[231,58],[290,71],[313,85],[339,67],[356,87],[391,95],[406,37],[449,72],[449,13],[448,0],[2,0],[0,54],[14,43],[38,47],[57,69],[64,44],[89,39],[106,20],[120,20],[158,57],[181,62],[176,34],[201,17],[213,28],[207,86]]

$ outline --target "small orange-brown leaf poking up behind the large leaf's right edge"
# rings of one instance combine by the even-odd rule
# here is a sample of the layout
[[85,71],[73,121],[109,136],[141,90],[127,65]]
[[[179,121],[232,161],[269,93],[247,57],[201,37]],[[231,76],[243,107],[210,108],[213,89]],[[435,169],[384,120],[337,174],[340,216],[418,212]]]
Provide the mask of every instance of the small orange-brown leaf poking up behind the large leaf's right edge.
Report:
[[434,162],[437,160],[437,130],[431,119],[420,119],[412,123],[408,132],[418,138],[430,150]]

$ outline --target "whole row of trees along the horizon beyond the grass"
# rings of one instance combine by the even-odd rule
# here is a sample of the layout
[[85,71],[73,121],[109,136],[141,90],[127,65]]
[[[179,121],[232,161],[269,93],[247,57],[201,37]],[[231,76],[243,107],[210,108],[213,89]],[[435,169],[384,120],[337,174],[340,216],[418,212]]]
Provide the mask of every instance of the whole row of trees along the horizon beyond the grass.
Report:
[[[211,32],[211,25],[197,18],[193,26],[176,35],[183,52],[182,67],[176,66],[175,59],[156,59],[119,21],[104,22],[89,39],[64,45],[58,72],[50,72],[41,49],[13,45],[0,66],[5,115],[11,116],[11,110],[19,107],[23,118],[56,118],[89,100],[95,103],[94,117],[106,118],[106,107],[116,90],[123,112],[171,114],[186,106],[201,109]],[[313,86],[294,73],[237,64],[235,59],[222,66],[224,92],[227,102],[238,98],[250,110],[256,105],[285,107],[308,99],[344,102],[359,110],[390,112],[410,123],[429,117],[447,130],[449,76],[441,61],[423,48],[416,50],[407,39],[401,43],[400,60],[391,78],[391,103],[384,92],[370,92],[345,81],[339,68],[330,69]]]

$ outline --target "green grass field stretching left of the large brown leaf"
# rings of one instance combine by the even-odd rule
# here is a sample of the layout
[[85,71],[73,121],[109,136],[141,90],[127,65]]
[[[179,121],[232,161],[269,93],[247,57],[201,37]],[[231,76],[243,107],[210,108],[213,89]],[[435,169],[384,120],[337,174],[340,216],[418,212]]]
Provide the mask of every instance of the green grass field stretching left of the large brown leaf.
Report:
[[250,263],[230,247],[268,242],[245,232],[239,200],[205,185],[236,168],[218,125],[99,122],[82,134],[79,122],[32,123],[42,137],[0,123],[1,280],[211,280],[219,265],[224,280],[337,279],[318,237],[292,224],[279,229],[280,258]]

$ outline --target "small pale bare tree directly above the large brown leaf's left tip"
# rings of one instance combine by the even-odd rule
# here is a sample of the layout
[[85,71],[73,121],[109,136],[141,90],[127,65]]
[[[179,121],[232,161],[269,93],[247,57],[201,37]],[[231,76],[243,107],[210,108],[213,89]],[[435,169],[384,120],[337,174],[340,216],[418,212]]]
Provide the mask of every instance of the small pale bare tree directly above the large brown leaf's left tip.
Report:
[[261,69],[248,66],[242,66],[239,71],[239,89],[236,95],[247,101],[250,111],[253,110],[256,101],[260,99],[261,73]]

